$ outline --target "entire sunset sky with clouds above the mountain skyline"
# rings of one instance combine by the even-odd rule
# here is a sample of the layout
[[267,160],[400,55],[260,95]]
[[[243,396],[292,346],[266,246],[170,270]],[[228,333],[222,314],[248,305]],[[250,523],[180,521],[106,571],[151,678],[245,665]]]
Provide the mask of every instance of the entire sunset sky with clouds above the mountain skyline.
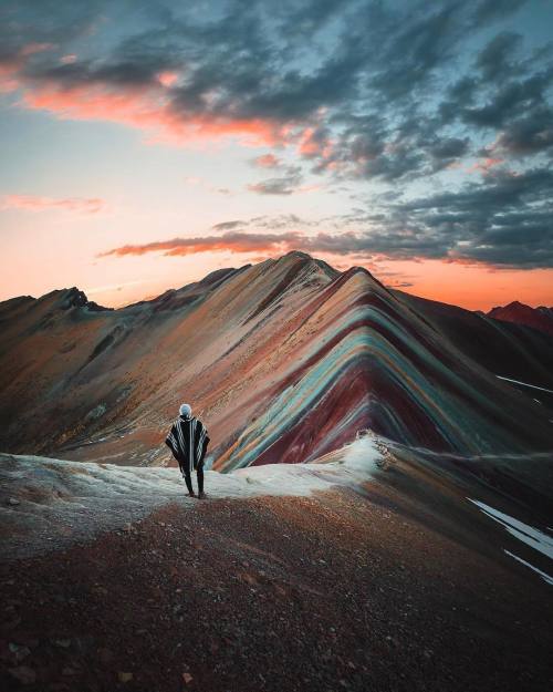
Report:
[[553,306],[553,0],[3,0],[0,300],[303,250]]

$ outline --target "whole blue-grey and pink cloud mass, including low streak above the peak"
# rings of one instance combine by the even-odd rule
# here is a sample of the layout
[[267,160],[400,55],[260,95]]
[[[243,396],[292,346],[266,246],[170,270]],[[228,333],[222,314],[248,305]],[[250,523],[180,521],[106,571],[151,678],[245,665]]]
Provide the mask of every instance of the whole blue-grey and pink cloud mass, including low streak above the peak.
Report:
[[[368,200],[316,235],[283,215],[231,219],[196,245],[112,255],[294,246],[551,266],[553,48],[529,29],[525,4],[259,0],[246,11],[226,0],[201,12],[150,3],[122,22],[131,1],[22,1],[0,23],[0,74],[20,107],[59,118],[117,123],[152,143],[263,146],[248,154],[267,176],[251,193],[307,192],[312,174]],[[539,4],[532,21],[545,22]]]

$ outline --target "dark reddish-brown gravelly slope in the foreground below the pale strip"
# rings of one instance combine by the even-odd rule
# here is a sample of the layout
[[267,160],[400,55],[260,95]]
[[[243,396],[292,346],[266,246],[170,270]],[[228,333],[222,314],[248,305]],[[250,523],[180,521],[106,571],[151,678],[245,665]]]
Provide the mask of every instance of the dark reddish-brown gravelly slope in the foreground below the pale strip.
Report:
[[551,587],[372,482],[173,502],[0,568],[0,688],[551,690]]

